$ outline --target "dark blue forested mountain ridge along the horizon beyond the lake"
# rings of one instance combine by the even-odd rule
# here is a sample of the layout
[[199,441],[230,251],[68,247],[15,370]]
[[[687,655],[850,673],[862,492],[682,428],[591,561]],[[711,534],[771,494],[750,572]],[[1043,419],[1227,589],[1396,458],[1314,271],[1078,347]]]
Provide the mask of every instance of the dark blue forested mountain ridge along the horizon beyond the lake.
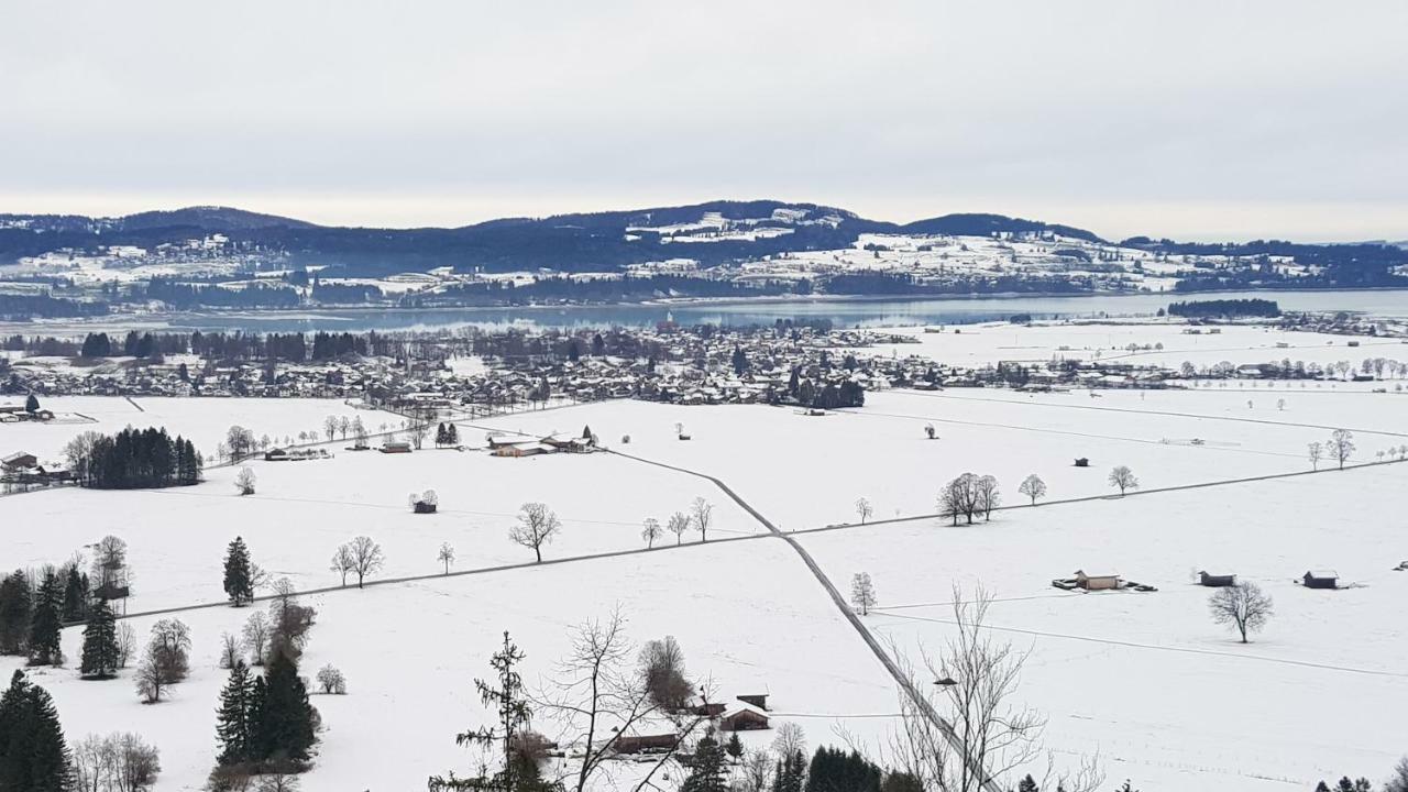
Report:
[[[227,249],[279,255],[342,276],[384,276],[451,268],[459,272],[614,272],[634,264],[690,258],[701,266],[803,251],[855,247],[863,234],[991,237],[1059,235],[1112,244],[1073,225],[1002,214],[945,214],[912,223],[870,220],[845,209],[780,200],[714,200],[617,211],[505,217],[455,228],[317,225],[291,217],[221,206],[142,211],[125,217],[0,214],[0,264],[52,251],[152,249],[210,234]],[[1312,245],[1287,241],[1176,242],[1133,237],[1119,242],[1153,252],[1290,256],[1329,271],[1342,285],[1383,285],[1408,268],[1408,251],[1388,244]],[[1269,261],[1269,258],[1267,258]],[[1209,273],[1208,287],[1231,285]]]

